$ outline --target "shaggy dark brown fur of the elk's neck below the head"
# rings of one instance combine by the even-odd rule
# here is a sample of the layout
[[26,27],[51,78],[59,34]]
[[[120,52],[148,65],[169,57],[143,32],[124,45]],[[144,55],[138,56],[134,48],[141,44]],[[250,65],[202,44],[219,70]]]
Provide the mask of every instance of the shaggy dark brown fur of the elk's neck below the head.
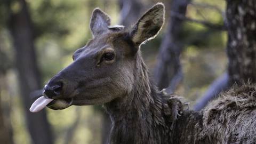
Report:
[[170,143],[178,104],[174,102],[170,109],[170,97],[159,93],[149,82],[145,63],[140,55],[137,59],[131,93],[105,105],[113,121],[110,143]]

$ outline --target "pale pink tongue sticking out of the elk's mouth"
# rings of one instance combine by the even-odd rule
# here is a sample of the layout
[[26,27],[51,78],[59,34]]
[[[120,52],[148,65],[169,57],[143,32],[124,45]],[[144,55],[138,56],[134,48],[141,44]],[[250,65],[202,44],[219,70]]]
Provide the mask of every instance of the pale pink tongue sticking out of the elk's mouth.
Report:
[[48,105],[48,103],[50,103],[51,101],[53,101],[53,99],[47,99],[44,96],[38,98],[29,108],[29,110],[32,113],[37,113],[38,111],[42,110],[43,108],[46,107],[46,105]]

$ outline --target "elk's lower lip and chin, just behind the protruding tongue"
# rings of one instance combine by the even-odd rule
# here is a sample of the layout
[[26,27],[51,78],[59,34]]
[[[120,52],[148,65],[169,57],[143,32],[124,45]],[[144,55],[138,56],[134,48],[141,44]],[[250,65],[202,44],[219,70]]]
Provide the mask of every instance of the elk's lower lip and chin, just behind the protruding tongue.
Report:
[[73,99],[54,99],[52,102],[50,102],[47,107],[58,110],[58,109],[65,109],[72,105]]

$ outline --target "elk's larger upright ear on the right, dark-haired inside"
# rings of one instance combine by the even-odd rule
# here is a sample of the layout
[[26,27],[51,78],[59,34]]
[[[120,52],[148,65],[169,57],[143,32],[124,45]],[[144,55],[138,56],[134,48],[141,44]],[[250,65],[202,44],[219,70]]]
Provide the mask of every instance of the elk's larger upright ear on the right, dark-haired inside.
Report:
[[135,45],[140,46],[140,44],[153,39],[158,34],[164,23],[164,13],[164,4],[157,3],[142,15],[130,32]]

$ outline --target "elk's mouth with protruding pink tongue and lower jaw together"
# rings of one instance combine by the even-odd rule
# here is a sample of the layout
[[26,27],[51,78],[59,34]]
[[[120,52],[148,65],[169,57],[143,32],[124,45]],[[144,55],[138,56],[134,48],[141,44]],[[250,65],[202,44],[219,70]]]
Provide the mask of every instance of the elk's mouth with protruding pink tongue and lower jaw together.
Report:
[[32,113],[37,113],[44,109],[46,106],[57,110],[57,109],[65,109],[72,105],[73,98],[67,98],[67,99],[49,99],[45,96],[42,96],[35,100],[35,102],[31,105],[30,111]]

